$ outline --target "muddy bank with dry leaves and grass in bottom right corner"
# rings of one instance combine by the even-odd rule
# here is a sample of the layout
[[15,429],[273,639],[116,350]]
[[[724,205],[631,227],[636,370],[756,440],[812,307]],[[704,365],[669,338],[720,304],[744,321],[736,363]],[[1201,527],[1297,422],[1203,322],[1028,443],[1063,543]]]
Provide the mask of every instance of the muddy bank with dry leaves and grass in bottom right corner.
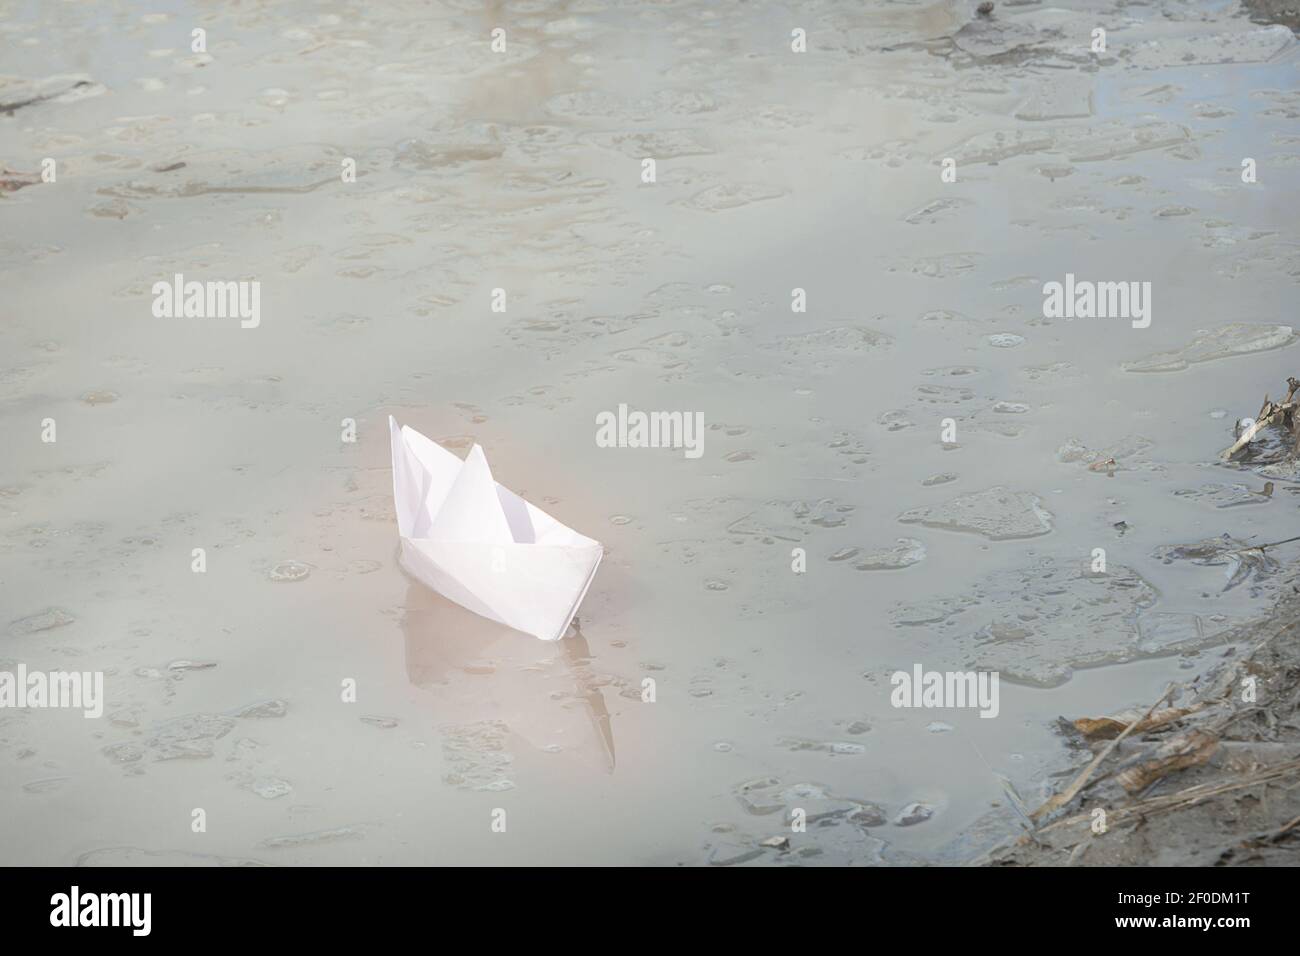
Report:
[[[1063,719],[1063,732],[1079,748],[1078,775],[1063,777],[1058,796],[1027,813],[1037,825],[1034,832],[1026,827],[980,862],[1295,865],[1300,564],[1283,574],[1275,613],[1236,628],[1214,652],[1218,662],[1197,679],[1114,719]],[[1075,796],[1061,799],[1080,779]]]

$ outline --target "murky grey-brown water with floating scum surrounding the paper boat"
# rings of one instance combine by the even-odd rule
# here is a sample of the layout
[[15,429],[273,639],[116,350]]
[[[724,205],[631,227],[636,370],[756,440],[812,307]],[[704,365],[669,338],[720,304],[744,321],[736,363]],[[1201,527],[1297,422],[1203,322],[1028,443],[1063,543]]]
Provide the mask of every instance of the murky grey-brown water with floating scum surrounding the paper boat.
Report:
[[[1300,531],[1295,483],[1217,463],[1296,373],[1300,60],[1228,4],[971,17],[0,4],[0,101],[46,98],[0,116],[31,182],[0,200],[0,662],[108,697],[0,711],[0,857],[1014,832],[1006,783],[1034,805],[1071,762],[1058,715],[1149,701],[1268,607],[1164,549]],[[260,281],[260,325],[155,317],[177,272]],[[1150,326],[1045,319],[1066,273],[1150,282]],[[619,403],[702,412],[705,454],[597,447]],[[580,633],[403,576],[390,414],[604,542]],[[890,708],[914,663],[998,670],[998,717]]]

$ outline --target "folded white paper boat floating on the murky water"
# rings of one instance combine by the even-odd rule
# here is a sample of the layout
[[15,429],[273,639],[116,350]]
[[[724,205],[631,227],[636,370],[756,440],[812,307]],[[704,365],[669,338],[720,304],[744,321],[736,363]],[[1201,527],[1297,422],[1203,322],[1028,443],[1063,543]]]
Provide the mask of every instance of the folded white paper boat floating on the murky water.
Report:
[[604,549],[493,480],[474,445],[462,462],[389,416],[402,567],[443,597],[558,641]]

